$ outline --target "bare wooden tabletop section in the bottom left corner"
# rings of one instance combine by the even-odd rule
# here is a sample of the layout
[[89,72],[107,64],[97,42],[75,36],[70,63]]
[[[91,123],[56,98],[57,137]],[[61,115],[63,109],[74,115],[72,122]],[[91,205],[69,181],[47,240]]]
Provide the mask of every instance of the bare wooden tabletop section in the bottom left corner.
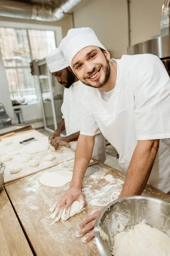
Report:
[[0,255],[33,256],[5,189],[0,193]]

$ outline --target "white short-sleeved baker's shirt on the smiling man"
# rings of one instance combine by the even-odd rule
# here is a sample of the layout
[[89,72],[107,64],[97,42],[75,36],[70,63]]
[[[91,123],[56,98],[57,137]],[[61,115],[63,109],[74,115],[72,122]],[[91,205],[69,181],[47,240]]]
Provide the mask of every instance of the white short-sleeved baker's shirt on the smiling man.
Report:
[[99,90],[86,88],[80,134],[98,129],[116,148],[119,166],[127,172],[138,140],[160,139],[148,184],[170,191],[170,77],[161,60],[151,54],[123,55],[108,102]]

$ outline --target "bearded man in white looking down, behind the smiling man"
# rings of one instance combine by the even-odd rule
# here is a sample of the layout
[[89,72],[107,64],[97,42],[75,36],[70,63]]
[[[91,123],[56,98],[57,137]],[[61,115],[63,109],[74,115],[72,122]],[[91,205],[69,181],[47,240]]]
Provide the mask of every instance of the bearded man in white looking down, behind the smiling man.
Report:
[[[54,49],[46,56],[48,68],[57,81],[65,87],[63,103],[61,107],[62,122],[54,133],[50,134],[50,143],[55,148],[59,145],[69,143],[71,148],[76,150],[82,123],[82,97],[84,96],[85,85],[77,78],[68,63],[59,53],[59,48]],[[62,131],[66,136],[61,137]],[[106,148],[105,137],[100,131],[96,133],[92,157],[105,162]]]

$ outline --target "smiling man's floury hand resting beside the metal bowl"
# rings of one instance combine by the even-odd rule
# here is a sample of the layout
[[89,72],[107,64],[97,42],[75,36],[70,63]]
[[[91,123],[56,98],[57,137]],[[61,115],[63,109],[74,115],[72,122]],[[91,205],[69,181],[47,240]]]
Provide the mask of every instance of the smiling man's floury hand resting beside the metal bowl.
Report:
[[85,218],[78,226],[77,226],[77,233],[76,236],[80,237],[83,236],[84,234],[91,232],[86,235],[85,237],[82,238],[82,242],[84,244],[86,244],[88,241],[90,241],[92,238],[94,238],[94,224],[96,221],[97,216],[99,215],[99,212],[102,211],[102,209],[104,209],[105,206],[101,206],[95,209],[94,213],[91,213],[91,215],[89,215],[87,218]]

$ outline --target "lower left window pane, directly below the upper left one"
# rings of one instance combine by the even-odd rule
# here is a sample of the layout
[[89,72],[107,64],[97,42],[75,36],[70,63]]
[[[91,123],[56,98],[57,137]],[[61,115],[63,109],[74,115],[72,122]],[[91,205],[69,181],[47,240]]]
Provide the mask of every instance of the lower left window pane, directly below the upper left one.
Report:
[[26,102],[37,100],[34,78],[29,68],[6,69],[11,100],[25,99]]

